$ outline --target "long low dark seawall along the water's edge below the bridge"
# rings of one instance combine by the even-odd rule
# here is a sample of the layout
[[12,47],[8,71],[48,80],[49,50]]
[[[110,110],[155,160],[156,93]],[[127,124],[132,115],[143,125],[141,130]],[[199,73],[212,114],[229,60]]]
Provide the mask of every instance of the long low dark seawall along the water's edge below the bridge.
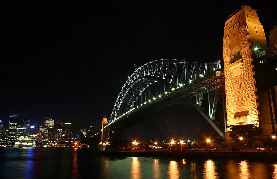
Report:
[[136,156],[136,157],[182,157],[182,158],[255,158],[275,159],[276,152],[122,152],[122,151],[99,151],[99,155]]

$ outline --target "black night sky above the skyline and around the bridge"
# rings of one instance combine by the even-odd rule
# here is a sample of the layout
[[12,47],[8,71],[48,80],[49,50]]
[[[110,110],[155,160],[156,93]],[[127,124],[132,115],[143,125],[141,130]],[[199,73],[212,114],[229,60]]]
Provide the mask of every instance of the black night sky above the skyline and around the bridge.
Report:
[[[101,128],[128,75],[157,59],[223,60],[223,27],[241,5],[268,39],[276,1],[1,1],[1,121],[44,117]],[[22,125],[22,124],[21,124]],[[184,140],[215,132],[194,109],[125,130],[130,140]]]

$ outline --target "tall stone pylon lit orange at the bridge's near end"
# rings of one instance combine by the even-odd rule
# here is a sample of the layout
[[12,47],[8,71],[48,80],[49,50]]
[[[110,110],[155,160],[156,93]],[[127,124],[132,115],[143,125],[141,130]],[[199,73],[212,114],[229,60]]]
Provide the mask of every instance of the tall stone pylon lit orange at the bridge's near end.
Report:
[[268,80],[276,79],[266,78],[272,69],[257,58],[267,51],[263,26],[256,10],[246,5],[228,18],[223,36],[227,131],[230,125],[255,124],[267,138],[276,129],[276,82],[269,87]]

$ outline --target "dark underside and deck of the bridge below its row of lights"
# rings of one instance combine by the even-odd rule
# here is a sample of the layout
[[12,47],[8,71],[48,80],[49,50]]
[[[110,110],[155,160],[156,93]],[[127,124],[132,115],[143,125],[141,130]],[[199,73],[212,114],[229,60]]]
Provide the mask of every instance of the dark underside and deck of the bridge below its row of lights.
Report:
[[[200,80],[194,81],[193,83],[183,85],[183,87],[168,92],[167,94],[163,94],[161,97],[158,97],[155,100],[152,99],[151,102],[147,102],[146,104],[135,108],[117,120],[109,123],[104,127],[104,129],[108,131],[110,130],[112,133],[113,131],[129,128],[133,125],[153,119],[168,112],[194,106],[193,103],[195,104],[195,102],[193,101],[193,97],[195,96],[196,92],[200,90],[202,92],[203,90],[206,90],[207,92],[208,90],[213,90],[216,87],[224,87],[224,71],[217,71],[216,74],[206,76]],[[221,132],[221,136],[222,134],[224,135],[224,124],[220,126],[218,125],[218,122],[210,120],[210,118],[207,116],[208,112],[204,110],[203,106],[205,105],[202,105],[202,107],[199,108],[203,112],[202,115],[206,114],[206,119],[208,122],[220,128],[220,131],[217,132]],[[194,107],[197,108],[197,105]]]

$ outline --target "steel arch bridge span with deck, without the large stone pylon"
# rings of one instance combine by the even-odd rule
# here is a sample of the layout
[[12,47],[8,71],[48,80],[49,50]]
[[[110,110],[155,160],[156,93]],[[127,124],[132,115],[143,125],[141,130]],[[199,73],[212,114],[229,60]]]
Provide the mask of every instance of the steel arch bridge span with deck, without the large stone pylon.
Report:
[[123,85],[102,130],[112,140],[135,124],[193,106],[224,139],[225,90],[221,90],[224,71],[220,62],[161,59],[142,65]]

